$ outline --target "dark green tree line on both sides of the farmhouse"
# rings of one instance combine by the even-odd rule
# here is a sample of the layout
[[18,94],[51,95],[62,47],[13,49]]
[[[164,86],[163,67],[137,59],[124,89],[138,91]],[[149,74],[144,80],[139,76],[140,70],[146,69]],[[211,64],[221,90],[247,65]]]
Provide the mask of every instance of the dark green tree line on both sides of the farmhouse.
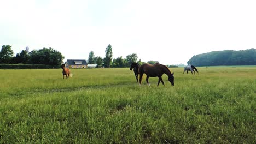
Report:
[[[3,45],[0,51],[0,63],[2,64],[45,64],[45,65],[61,65],[63,63],[64,56],[61,52],[54,50],[53,48],[43,48],[39,50],[29,50],[29,47],[21,50],[20,53],[16,53],[14,56],[13,50],[10,45]],[[105,57],[95,57],[94,52],[89,53],[88,63],[97,64],[98,67],[105,68],[124,68],[130,67],[132,62],[143,64],[141,59],[137,61],[138,56],[136,53],[127,55],[126,58],[122,56],[113,59],[112,46],[109,44],[105,50]]]

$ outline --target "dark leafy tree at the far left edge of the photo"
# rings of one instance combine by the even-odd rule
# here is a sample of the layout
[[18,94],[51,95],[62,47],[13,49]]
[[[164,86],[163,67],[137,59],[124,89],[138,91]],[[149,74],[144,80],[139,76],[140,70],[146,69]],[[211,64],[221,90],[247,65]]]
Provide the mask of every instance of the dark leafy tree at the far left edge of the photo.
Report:
[[10,45],[3,45],[0,51],[0,63],[11,63],[13,59],[13,50]]

